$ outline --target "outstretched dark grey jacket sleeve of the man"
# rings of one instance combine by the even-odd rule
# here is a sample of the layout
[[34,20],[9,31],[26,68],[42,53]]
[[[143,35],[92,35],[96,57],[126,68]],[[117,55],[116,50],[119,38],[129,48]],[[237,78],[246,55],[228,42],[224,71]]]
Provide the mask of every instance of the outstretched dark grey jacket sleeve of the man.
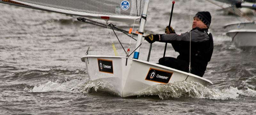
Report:
[[191,42],[203,42],[209,40],[209,36],[206,32],[199,30],[193,30],[191,32],[186,32],[183,34],[163,34],[159,42],[172,42],[172,41],[190,41]]

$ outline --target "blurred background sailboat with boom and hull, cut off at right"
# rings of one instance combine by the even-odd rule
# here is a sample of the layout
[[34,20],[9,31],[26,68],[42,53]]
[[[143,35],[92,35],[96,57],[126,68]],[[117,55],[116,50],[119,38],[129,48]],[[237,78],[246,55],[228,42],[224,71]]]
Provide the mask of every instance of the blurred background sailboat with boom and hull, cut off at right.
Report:
[[[231,22],[224,26],[228,31],[227,36],[231,37],[232,41],[236,44],[237,47],[240,47],[245,50],[255,50],[256,48],[256,1],[255,0],[216,0],[223,3],[230,4],[228,8],[224,8],[221,5],[218,5],[212,1],[209,1],[213,4],[216,4],[228,10],[233,14],[240,16],[245,21],[240,22]],[[237,8],[238,7],[238,8]],[[248,10],[240,10],[240,8],[248,9],[252,13],[248,13]],[[250,14],[251,16],[247,15]]]

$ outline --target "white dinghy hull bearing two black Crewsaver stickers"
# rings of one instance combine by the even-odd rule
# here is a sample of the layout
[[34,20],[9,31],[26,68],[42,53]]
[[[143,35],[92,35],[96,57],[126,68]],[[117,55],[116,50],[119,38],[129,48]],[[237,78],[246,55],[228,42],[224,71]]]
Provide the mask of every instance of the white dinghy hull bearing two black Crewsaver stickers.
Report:
[[[194,74],[182,72],[163,65],[115,56],[84,56],[89,79],[107,82],[110,90],[121,97],[137,96],[150,86],[177,81],[195,81],[207,86],[211,81]],[[151,77],[150,77],[151,76]]]

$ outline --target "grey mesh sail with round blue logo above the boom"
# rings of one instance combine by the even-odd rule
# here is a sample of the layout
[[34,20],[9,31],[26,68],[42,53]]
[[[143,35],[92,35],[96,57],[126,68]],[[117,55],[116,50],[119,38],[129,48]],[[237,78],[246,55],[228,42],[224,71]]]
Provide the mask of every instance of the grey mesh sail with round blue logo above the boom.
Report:
[[[1,3],[18,5],[72,16],[134,21],[140,19],[144,0],[125,0],[127,9],[122,8],[124,0],[2,0]],[[123,6],[124,6],[123,5]]]

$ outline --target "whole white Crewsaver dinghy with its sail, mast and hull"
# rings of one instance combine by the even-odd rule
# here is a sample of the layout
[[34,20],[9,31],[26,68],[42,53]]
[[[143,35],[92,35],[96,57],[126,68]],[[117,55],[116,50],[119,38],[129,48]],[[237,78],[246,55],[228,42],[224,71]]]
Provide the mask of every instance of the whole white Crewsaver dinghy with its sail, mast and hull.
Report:
[[[88,23],[112,28],[113,31],[117,30],[125,34],[127,31],[113,25],[100,24],[84,17],[134,23],[140,20],[138,32],[132,33],[138,36],[133,58],[130,57],[133,53],[129,54],[130,49],[127,50],[126,57],[122,57],[88,55],[89,48],[86,55],[81,58],[86,65],[89,79],[106,82],[110,86],[110,89],[106,90],[118,96],[137,96],[153,85],[179,81],[195,81],[204,86],[212,84],[211,81],[194,74],[139,59],[149,0],[2,0],[0,3],[78,16],[79,21],[90,21]],[[114,45],[113,49],[115,50]]]

